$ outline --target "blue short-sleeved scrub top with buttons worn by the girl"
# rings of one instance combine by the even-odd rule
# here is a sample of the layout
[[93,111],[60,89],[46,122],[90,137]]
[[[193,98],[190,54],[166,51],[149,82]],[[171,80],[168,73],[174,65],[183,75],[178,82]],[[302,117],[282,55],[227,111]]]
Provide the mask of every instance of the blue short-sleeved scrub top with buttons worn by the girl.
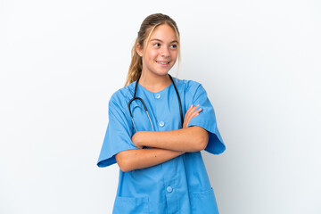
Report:
[[[188,127],[199,126],[209,131],[205,151],[219,154],[226,147],[219,135],[213,106],[205,89],[192,80],[173,78],[181,97],[183,116],[187,109],[200,104],[202,111]],[[128,111],[136,82],[119,89],[109,102],[109,124],[103,140],[98,167],[116,163],[115,154],[137,149],[131,137],[136,133]],[[179,104],[173,83],[157,93],[138,83],[136,96],[146,104],[154,131],[181,128]],[[137,131],[152,130],[143,104],[134,101],[131,111]],[[207,175],[201,152],[184,154],[145,169],[119,170],[119,186],[113,213],[218,213],[218,206]]]

